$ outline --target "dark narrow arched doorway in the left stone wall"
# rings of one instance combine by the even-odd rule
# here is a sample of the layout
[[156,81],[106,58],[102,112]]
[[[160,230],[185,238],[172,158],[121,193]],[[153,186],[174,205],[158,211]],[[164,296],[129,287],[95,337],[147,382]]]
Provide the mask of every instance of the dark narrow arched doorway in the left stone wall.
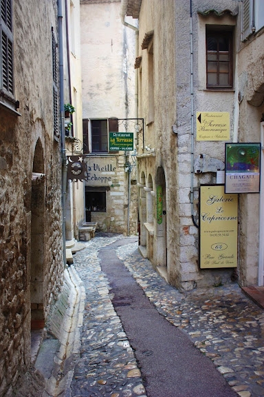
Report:
[[42,329],[45,325],[43,309],[45,176],[43,172],[43,147],[38,139],[34,152],[31,191],[30,298],[32,329]]

